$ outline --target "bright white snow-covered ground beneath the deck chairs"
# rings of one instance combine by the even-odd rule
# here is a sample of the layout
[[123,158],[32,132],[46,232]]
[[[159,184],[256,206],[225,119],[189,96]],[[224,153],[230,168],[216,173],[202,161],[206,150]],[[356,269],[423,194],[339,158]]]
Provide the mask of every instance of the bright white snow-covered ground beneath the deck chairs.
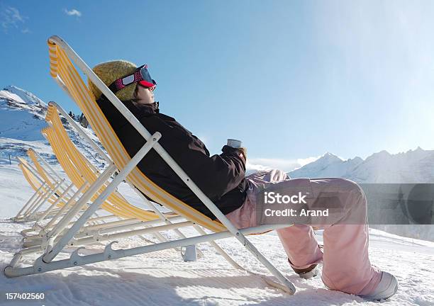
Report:
[[[128,189],[124,186],[121,192],[128,193]],[[31,194],[16,164],[0,164],[0,215],[3,218],[13,216]],[[127,196],[137,201],[133,194]],[[28,227],[0,221],[1,271],[21,247],[19,232]],[[194,234],[189,229],[182,229],[182,232],[187,236]],[[175,239],[174,234],[167,237]],[[155,241],[152,236],[146,238]],[[297,277],[289,268],[274,232],[255,235],[250,240],[294,283],[295,295],[287,295],[269,287],[258,276],[232,268],[211,246],[199,244],[204,258],[192,263],[184,263],[179,251],[165,250],[21,278],[6,278],[0,273],[0,305],[434,305],[433,242],[371,229],[371,261],[393,273],[400,288],[391,300],[368,302],[355,295],[327,290],[321,275],[311,280]],[[321,231],[318,242],[322,242]],[[219,243],[245,268],[269,275],[235,239],[223,239]],[[115,249],[143,244],[146,242],[138,237],[121,239]],[[103,248],[103,244],[87,246],[83,253],[91,254]],[[61,255],[67,258],[73,250],[67,249]],[[30,264],[31,259],[35,256],[27,256],[23,263]],[[46,297],[43,302],[6,302],[4,293],[7,292],[45,293]]]

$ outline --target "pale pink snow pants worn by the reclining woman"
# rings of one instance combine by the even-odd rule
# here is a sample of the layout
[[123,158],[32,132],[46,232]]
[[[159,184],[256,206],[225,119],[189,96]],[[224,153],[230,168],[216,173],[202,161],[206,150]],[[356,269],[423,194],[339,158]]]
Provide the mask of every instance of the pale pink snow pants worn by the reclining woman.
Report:
[[[257,225],[256,193],[260,187],[267,188],[274,183],[283,184],[281,190],[285,186],[292,188],[294,184],[310,183],[313,196],[321,192],[338,192],[346,208],[365,215],[367,212],[365,193],[357,183],[347,179],[289,179],[284,171],[278,169],[260,171],[246,176],[246,179],[250,188],[245,203],[226,215],[238,228]],[[345,224],[345,220],[340,220],[335,224],[313,226],[324,229],[323,251],[316,242],[311,225],[293,225],[277,230],[291,266],[301,269],[323,261],[322,279],[327,288],[355,295],[372,293],[379,283],[381,271],[369,261],[367,224]]]

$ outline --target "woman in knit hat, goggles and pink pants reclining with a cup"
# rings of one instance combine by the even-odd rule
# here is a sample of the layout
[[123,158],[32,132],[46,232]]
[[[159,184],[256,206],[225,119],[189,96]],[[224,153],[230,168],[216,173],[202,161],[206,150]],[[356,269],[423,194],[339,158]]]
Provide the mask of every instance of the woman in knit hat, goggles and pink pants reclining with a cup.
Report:
[[[332,290],[371,300],[396,293],[396,278],[369,261],[367,200],[357,183],[337,178],[290,179],[277,169],[245,177],[245,148],[225,145],[221,154],[210,156],[201,140],[174,118],[160,113],[159,103],[154,101],[156,83],[147,66],[137,67],[118,60],[98,64],[93,70],[151,134],[161,132],[162,147],[238,228],[259,224],[257,210],[269,208],[262,201],[265,191],[308,191],[304,196],[300,194],[308,210],[331,209],[338,203],[338,210],[344,213],[314,217],[311,223],[277,230],[289,264],[301,277],[316,276],[316,265],[323,261],[323,283]],[[91,81],[89,88],[132,157],[145,140]],[[155,150],[146,154],[138,167],[165,191],[216,219]],[[324,229],[324,251],[319,248],[308,224]]]

